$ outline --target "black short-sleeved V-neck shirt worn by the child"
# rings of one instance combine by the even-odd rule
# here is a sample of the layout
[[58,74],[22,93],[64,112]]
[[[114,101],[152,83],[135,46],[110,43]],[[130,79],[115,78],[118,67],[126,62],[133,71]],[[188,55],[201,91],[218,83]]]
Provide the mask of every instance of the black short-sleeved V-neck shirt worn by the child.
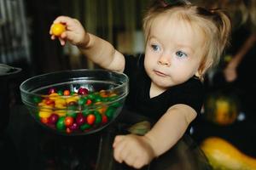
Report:
[[144,55],[125,56],[125,71],[129,77],[129,94],[125,101],[128,110],[148,116],[157,121],[166,111],[176,104],[189,105],[200,115],[203,102],[203,84],[195,77],[187,82],[173,86],[164,93],[149,97],[151,80],[143,66]]

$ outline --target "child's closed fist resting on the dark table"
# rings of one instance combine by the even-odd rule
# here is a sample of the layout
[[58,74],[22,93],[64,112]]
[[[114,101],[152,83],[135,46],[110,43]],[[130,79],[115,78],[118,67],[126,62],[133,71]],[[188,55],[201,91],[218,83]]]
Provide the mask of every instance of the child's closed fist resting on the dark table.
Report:
[[145,136],[119,135],[113,142],[113,156],[119,163],[141,168],[154,158],[154,150]]

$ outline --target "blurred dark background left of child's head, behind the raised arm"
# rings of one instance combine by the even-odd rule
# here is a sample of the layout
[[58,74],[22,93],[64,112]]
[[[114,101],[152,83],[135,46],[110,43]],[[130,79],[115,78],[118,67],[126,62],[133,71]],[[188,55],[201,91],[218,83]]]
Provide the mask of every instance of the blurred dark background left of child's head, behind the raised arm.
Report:
[[[49,38],[49,26],[59,15],[77,18],[87,31],[123,53],[143,52],[141,20],[147,0],[1,0],[0,62],[27,68],[32,74],[93,67],[77,48]],[[26,65],[26,66],[25,66]]]

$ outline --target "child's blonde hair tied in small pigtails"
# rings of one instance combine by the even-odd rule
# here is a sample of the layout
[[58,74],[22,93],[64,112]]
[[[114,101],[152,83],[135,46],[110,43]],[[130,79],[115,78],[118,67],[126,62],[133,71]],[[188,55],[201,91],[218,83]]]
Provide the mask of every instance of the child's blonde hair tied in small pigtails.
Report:
[[143,19],[143,30],[148,41],[148,35],[154,19],[161,14],[172,17],[173,14],[180,20],[186,21],[191,27],[199,27],[204,35],[203,57],[199,71],[204,75],[208,68],[217,65],[224,47],[230,37],[230,18],[220,9],[207,10],[192,4],[178,3],[175,5],[163,6],[161,3],[154,3],[148,9]]

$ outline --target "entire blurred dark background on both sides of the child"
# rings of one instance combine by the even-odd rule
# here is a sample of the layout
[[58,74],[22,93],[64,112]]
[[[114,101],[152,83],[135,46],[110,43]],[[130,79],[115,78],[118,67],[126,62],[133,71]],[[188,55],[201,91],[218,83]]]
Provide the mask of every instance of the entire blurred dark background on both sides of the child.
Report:
[[[81,21],[90,33],[124,54],[143,53],[143,12],[149,0],[0,0],[0,64],[22,69],[9,81],[10,106],[20,103],[20,82],[51,71],[95,68],[70,44],[49,37],[59,15]],[[233,31],[220,64],[209,71],[202,116],[191,134],[198,144],[211,136],[226,139],[256,157],[255,0],[191,0],[207,8],[225,8]],[[231,73],[230,73],[231,72]],[[254,72],[254,73],[253,73]]]

